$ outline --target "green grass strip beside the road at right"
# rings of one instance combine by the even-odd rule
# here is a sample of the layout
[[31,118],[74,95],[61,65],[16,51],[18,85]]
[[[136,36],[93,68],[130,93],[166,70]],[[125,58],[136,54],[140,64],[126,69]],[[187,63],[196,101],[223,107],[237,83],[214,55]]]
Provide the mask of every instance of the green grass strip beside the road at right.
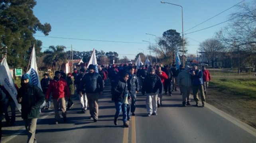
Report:
[[213,78],[211,86],[235,98],[256,99],[255,78]]

